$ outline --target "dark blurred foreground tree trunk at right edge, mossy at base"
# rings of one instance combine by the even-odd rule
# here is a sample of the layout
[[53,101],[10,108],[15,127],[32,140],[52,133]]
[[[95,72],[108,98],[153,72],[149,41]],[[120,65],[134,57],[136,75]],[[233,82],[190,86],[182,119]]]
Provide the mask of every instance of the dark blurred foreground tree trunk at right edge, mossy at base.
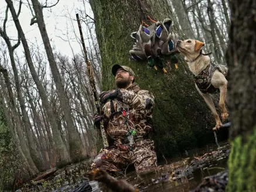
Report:
[[256,1],[231,0],[228,191],[256,191]]

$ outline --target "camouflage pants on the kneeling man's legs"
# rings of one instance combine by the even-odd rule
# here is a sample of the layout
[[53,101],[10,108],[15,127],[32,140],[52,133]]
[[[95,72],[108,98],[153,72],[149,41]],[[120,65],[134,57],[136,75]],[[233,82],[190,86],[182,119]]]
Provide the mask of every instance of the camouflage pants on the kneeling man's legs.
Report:
[[114,149],[101,149],[95,157],[93,169],[105,169],[111,172],[125,170],[129,164],[134,164],[136,172],[156,166],[156,153],[154,142],[151,139],[141,140],[133,145],[120,145]]

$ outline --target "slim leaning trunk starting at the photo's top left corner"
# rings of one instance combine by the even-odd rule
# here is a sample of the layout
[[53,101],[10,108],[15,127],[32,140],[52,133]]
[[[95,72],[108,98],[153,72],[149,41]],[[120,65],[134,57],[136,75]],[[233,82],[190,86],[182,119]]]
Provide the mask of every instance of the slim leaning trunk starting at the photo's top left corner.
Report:
[[21,37],[21,42],[22,42],[23,48],[25,50],[25,57],[28,62],[30,73],[32,75],[33,80],[35,81],[40,98],[42,100],[43,107],[46,109],[46,112],[47,112],[47,116],[48,116],[48,119],[49,119],[49,122],[50,122],[50,125],[52,128],[52,132],[53,132],[53,139],[54,139],[54,146],[56,147],[55,148],[56,154],[59,157],[59,159],[57,159],[57,161],[58,161],[58,163],[63,163],[63,164],[69,163],[70,162],[69,152],[67,152],[67,149],[65,148],[64,143],[62,142],[62,138],[60,138],[60,133],[57,129],[56,121],[54,119],[52,111],[50,110],[47,95],[45,93],[45,90],[43,89],[42,83],[40,82],[40,80],[36,74],[35,67],[33,66],[33,61],[32,61],[32,57],[30,54],[28,42],[26,41],[25,34],[21,27],[21,23],[19,23],[19,19],[16,14],[16,11],[13,7],[12,1],[11,0],[5,0],[5,1],[8,4],[9,9],[12,13],[13,22],[15,23],[16,29],[18,30],[19,36]]

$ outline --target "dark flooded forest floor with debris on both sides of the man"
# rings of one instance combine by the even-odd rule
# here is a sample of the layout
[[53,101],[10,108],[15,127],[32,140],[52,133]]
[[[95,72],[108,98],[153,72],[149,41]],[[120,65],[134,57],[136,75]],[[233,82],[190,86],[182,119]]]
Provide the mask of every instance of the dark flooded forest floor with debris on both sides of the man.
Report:
[[[178,157],[167,159],[137,175],[135,172],[120,174],[117,179],[127,180],[139,191],[190,191],[196,188],[204,177],[222,172],[227,167],[230,153],[228,143],[208,145],[201,149],[185,151]],[[86,175],[90,170],[91,161],[85,161],[55,170],[51,177],[39,181],[30,181],[18,191],[69,191],[89,192],[78,190],[85,183]],[[87,182],[88,183],[88,182]],[[90,181],[93,192],[110,191],[98,181]],[[89,188],[90,188],[89,186]]]

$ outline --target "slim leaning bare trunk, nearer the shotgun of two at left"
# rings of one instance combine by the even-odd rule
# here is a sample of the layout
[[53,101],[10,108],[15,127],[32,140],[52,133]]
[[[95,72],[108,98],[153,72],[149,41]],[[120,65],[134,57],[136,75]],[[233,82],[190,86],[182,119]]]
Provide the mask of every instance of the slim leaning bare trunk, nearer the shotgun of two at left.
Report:
[[69,132],[70,156],[72,160],[77,161],[81,157],[86,156],[86,153],[84,153],[85,150],[83,148],[83,143],[81,142],[81,138],[78,134],[76,126],[74,125],[74,121],[71,115],[69,100],[67,99],[67,95],[64,91],[62,80],[60,78],[60,73],[54,59],[52,47],[50,45],[50,40],[46,31],[45,20],[43,19],[42,5],[37,0],[32,0],[32,4],[33,4],[33,9],[35,11],[37,24],[42,36],[43,44],[45,45],[45,50],[46,50],[47,58],[50,64],[50,69],[53,74],[54,83],[56,84],[57,94],[63,109],[64,118],[67,123],[67,129]]

